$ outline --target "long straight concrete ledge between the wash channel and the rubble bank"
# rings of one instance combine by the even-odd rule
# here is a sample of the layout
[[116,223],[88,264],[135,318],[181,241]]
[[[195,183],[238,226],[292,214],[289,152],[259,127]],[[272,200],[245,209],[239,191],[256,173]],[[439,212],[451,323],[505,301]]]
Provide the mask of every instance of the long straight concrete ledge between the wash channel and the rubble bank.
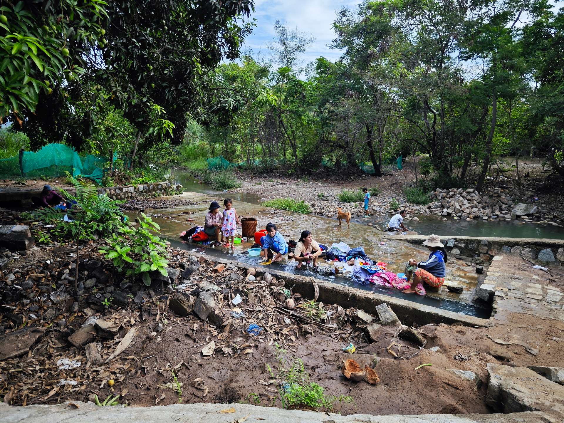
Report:
[[[252,266],[246,263],[226,260],[222,258],[211,257],[207,254],[197,254],[188,252],[196,257],[208,258],[215,263],[228,264],[232,263],[241,269],[254,267],[257,270],[257,276],[262,276],[266,272],[270,273],[276,279],[284,279],[287,288],[292,288],[293,292],[297,292],[306,298],[314,297],[314,285],[312,277],[294,275],[288,272],[277,271],[263,266]],[[343,287],[320,279],[314,279],[319,288],[319,300],[324,303],[338,304],[341,307],[355,307],[362,309],[371,314],[375,314],[376,306],[387,303],[395,312],[398,318],[404,324],[413,324],[417,322],[420,325],[428,323],[462,323],[469,326],[488,327],[490,321],[480,319],[474,316],[458,314],[453,311],[438,309],[437,307],[418,304],[403,298],[390,297],[384,294],[368,292],[362,289]]]

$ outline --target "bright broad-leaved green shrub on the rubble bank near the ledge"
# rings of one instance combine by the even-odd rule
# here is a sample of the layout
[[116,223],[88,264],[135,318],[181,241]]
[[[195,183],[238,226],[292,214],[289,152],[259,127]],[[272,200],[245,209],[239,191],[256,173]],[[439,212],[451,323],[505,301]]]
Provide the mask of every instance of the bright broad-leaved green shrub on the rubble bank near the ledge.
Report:
[[168,261],[165,241],[153,234],[161,228],[146,214],[141,215],[143,220],[138,228],[130,224],[117,227],[117,233],[112,233],[106,239],[109,245],[103,246],[99,252],[105,258],[112,259],[118,272],[125,271],[126,276],[140,276],[143,283],[149,286],[150,272],[158,271],[163,276],[168,276]]

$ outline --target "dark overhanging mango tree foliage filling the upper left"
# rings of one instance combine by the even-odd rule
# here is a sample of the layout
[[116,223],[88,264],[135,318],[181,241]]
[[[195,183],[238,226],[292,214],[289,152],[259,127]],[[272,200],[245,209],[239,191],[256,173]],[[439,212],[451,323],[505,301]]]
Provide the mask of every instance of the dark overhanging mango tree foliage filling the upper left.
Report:
[[[0,118],[18,122],[32,146],[80,148],[105,90],[148,142],[165,121],[180,142],[187,114],[204,110],[207,74],[239,56],[253,8],[253,0],[4,3]],[[165,113],[157,120],[155,104]]]

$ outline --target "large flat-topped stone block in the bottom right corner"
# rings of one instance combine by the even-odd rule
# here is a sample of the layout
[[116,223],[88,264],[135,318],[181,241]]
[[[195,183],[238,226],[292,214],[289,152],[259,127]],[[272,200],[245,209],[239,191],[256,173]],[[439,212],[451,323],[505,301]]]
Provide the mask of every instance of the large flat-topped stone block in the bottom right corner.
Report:
[[496,412],[551,410],[564,414],[564,386],[526,367],[487,364],[486,405]]

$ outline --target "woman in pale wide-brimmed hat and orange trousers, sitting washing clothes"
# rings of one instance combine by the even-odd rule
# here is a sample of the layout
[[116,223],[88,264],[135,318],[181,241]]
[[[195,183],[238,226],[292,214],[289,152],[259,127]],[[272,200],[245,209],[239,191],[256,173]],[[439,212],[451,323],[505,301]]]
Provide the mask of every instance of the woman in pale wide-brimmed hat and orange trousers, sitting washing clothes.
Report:
[[[417,266],[413,272],[413,283],[409,289],[404,290],[404,293],[415,292],[415,288],[419,283],[430,285],[434,288],[442,287],[444,277],[446,276],[447,268],[445,263],[448,261],[447,252],[444,250],[444,245],[440,243],[437,235],[431,235],[426,241],[423,241],[431,252],[429,258],[424,262],[416,262],[409,260],[410,266]],[[406,272],[407,280],[411,279],[412,272]]]

